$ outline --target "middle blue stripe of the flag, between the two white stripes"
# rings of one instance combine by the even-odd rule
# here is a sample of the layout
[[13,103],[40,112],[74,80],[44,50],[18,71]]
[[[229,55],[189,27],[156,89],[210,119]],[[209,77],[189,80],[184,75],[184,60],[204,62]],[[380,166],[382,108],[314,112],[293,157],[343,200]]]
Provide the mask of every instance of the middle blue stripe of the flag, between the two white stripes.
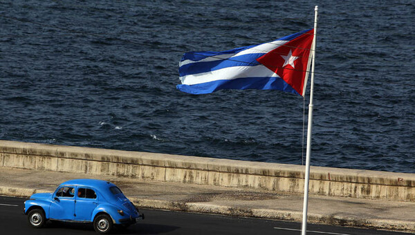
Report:
[[255,66],[260,64],[256,61],[256,59],[264,54],[265,53],[243,54],[239,57],[231,57],[229,59],[221,59],[217,61],[188,63],[178,68],[178,73],[180,76],[186,76],[189,74],[199,74],[202,72],[210,72],[234,66]]

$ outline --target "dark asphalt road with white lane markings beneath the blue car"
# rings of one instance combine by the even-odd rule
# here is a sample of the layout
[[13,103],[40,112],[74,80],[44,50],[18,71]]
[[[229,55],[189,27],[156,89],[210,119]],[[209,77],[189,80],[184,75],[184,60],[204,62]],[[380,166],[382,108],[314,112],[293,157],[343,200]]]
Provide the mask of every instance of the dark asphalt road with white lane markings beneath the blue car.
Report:
[[[47,223],[44,228],[34,229],[23,214],[25,200],[0,196],[0,234],[97,234],[91,224]],[[128,229],[118,229],[113,234],[301,234],[300,223],[160,210],[140,211],[145,213],[145,221]],[[406,234],[328,225],[309,224],[307,228],[307,234],[311,235]]]

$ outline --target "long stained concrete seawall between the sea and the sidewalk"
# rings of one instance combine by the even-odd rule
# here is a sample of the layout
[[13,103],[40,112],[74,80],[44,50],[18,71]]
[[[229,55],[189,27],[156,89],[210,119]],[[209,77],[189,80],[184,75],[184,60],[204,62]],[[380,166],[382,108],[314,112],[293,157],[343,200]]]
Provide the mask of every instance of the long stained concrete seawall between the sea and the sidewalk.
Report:
[[[0,141],[3,167],[299,193],[304,166]],[[310,194],[415,201],[415,174],[311,167]]]

